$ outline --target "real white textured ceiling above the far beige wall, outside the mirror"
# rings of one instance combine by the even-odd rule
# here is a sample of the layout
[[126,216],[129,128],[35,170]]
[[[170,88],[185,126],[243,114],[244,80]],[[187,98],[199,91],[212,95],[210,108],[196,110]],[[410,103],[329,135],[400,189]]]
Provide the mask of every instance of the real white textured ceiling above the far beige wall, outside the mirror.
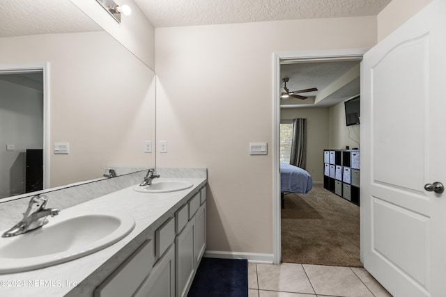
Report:
[[391,0],[134,0],[155,27],[377,15]]

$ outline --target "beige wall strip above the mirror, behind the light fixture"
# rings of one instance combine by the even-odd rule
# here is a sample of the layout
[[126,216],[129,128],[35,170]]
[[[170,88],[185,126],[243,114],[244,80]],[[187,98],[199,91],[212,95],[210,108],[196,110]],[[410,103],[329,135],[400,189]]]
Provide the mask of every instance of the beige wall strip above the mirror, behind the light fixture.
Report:
[[127,4],[132,8],[130,16],[121,16],[121,23],[116,22],[97,1],[70,1],[148,67],[155,69],[155,29],[133,0],[115,1],[118,5]]

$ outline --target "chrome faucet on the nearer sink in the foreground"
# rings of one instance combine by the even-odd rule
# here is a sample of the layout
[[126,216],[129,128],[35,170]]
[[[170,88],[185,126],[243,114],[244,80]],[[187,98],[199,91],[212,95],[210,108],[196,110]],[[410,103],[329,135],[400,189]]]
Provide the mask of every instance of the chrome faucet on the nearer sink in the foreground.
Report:
[[48,198],[45,195],[35,195],[29,200],[22,220],[6,231],[1,237],[24,234],[48,223],[47,216],[57,216],[59,209],[45,209]]

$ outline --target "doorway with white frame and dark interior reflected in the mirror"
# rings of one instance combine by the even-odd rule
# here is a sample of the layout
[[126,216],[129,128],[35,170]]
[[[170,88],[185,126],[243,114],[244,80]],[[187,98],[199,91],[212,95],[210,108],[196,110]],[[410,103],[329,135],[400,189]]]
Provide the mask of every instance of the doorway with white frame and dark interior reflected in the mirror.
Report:
[[48,187],[47,65],[0,65],[0,198]]

